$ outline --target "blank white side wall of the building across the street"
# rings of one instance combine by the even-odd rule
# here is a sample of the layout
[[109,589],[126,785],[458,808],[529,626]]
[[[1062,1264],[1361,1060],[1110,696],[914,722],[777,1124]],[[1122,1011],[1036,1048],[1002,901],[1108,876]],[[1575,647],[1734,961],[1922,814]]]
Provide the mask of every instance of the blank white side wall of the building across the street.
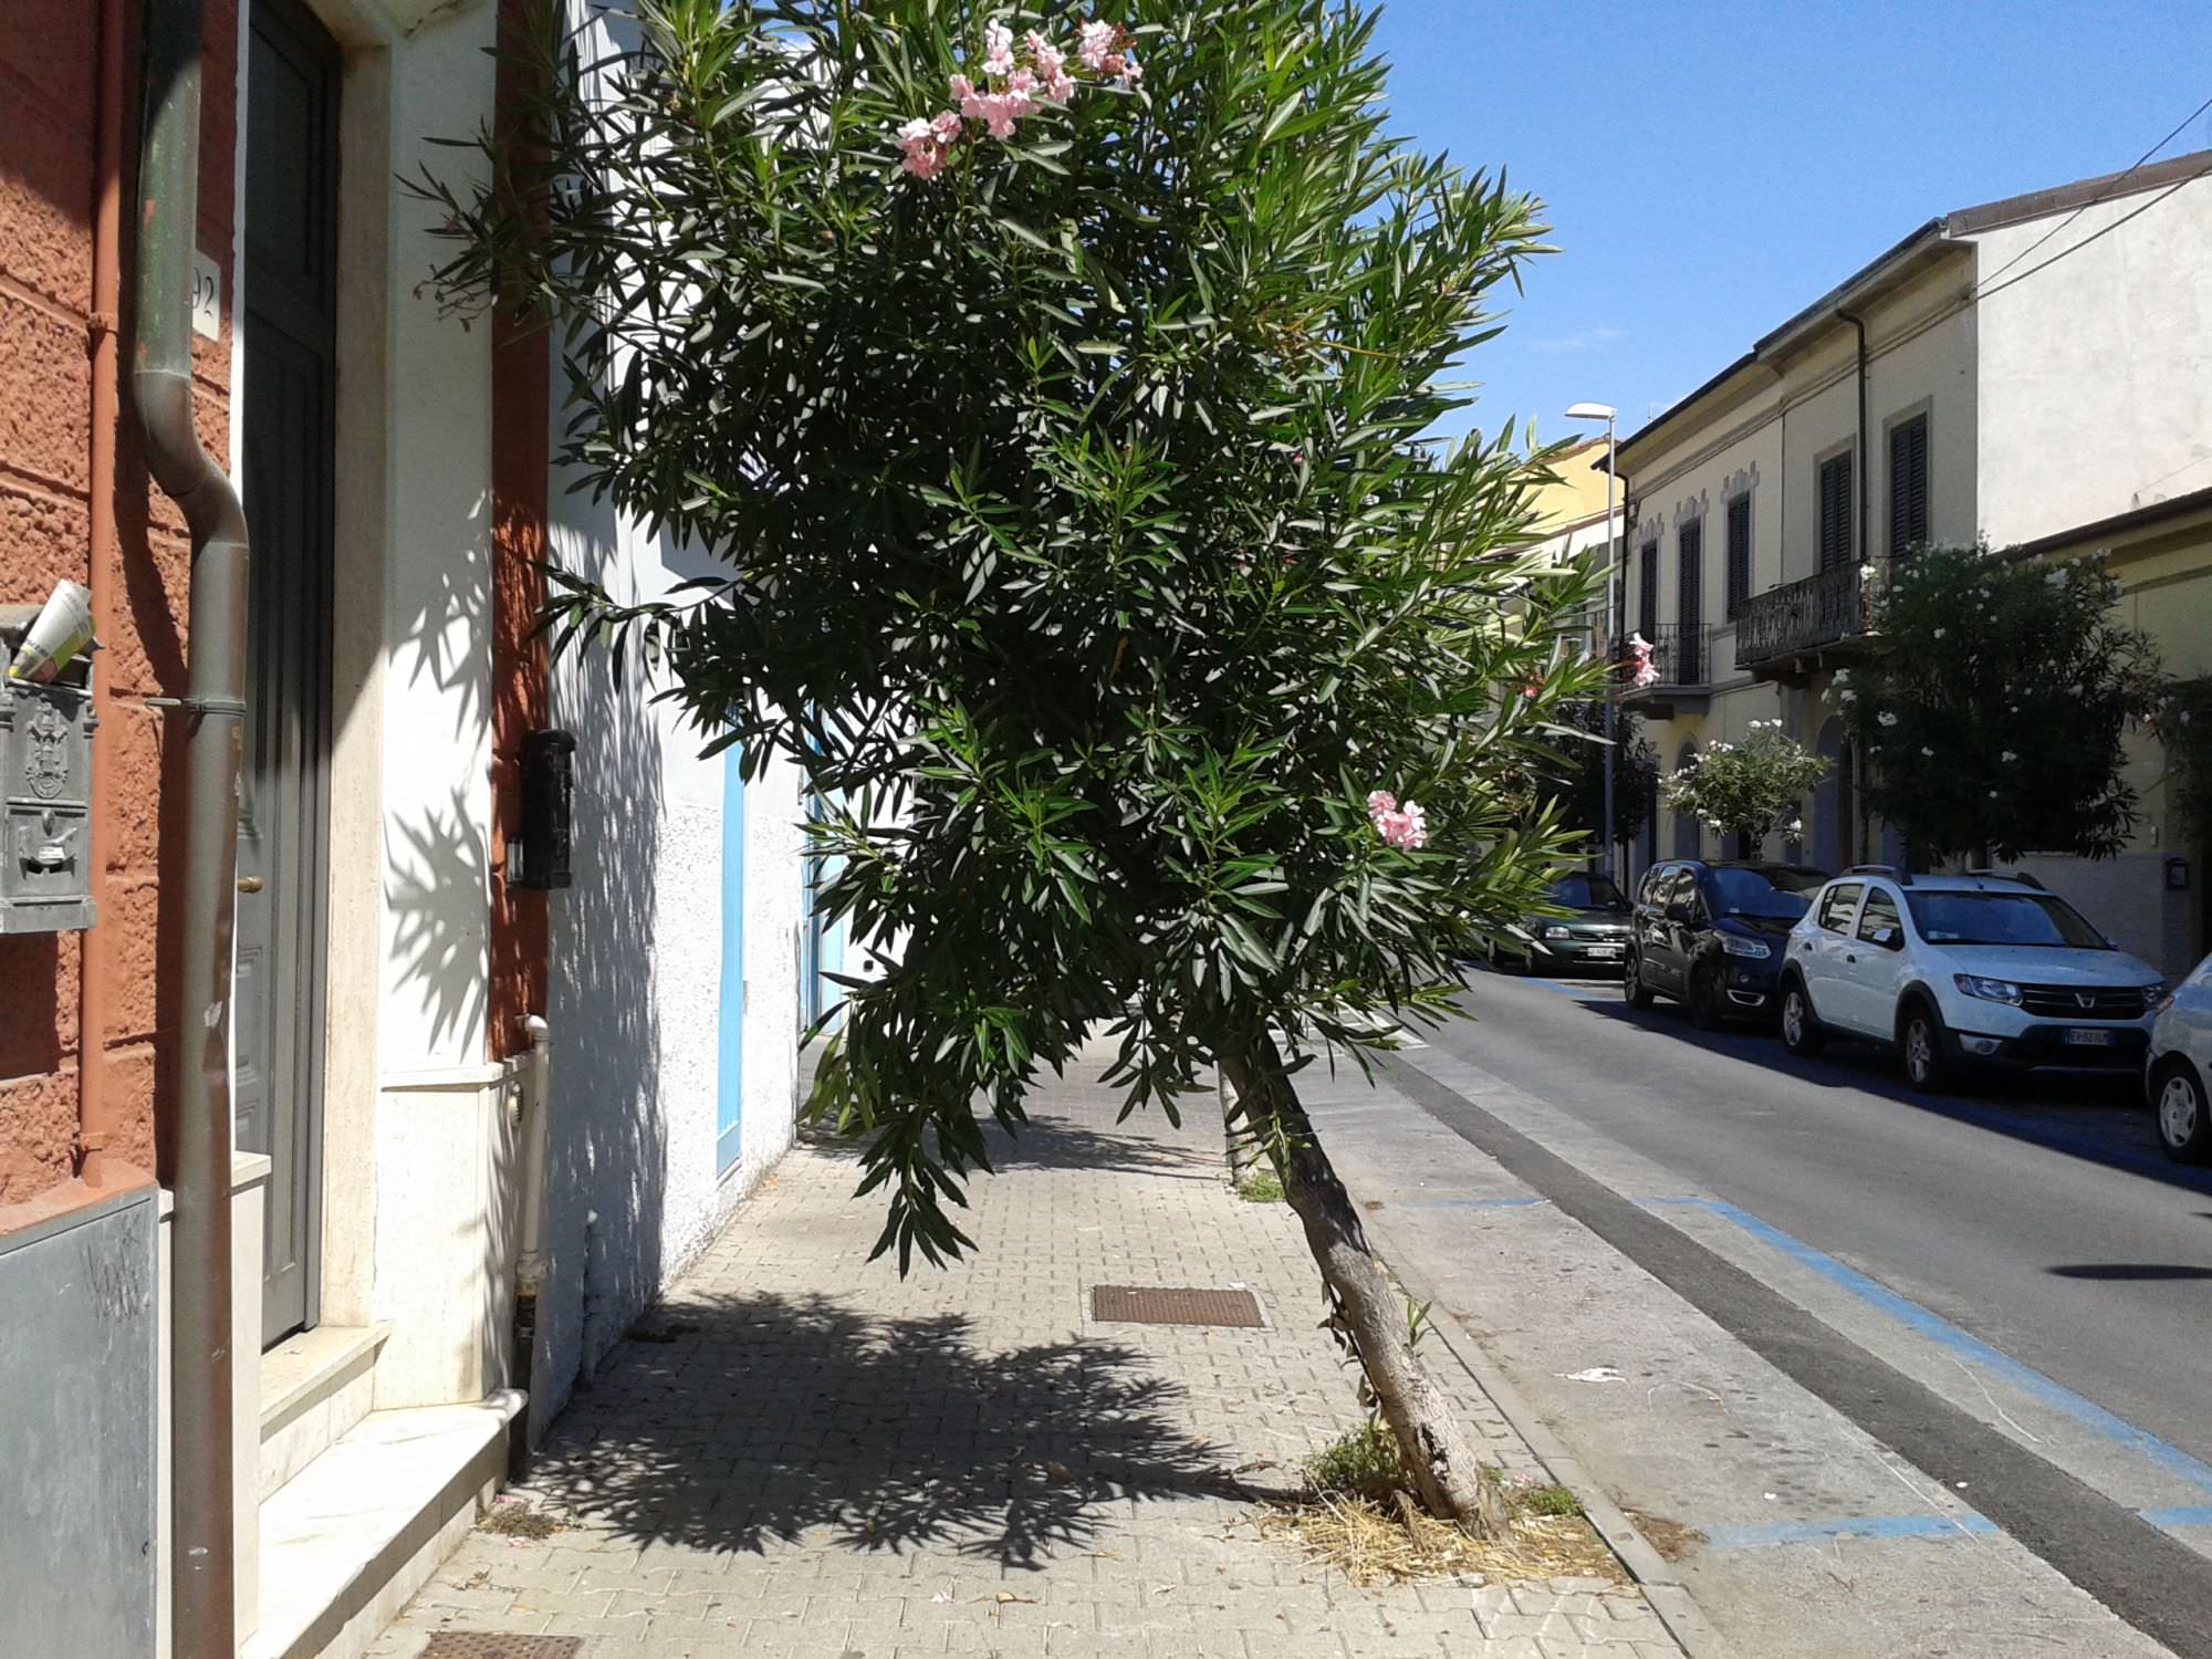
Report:
[[[2088,208],[1995,281],[2079,252],[1975,307],[1982,531],[2000,546],[2212,484],[2212,177],[2150,199]],[[1984,285],[2053,223],[1980,237]]]

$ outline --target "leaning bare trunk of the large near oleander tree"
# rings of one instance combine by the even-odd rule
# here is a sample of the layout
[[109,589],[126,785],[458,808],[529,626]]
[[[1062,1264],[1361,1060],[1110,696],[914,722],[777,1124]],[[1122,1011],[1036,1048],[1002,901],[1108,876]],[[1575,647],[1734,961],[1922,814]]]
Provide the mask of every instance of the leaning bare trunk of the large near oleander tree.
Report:
[[1405,1298],[1367,1248],[1367,1230],[1336,1166],[1283,1075],[1274,1042],[1221,1055],[1221,1071],[1259,1141],[1283,1175],[1283,1197],[1305,1225],[1343,1332],[1352,1338],[1367,1387],[1398,1440],[1413,1491],[1431,1515],[1460,1522],[1475,1537],[1502,1537],[1511,1509],[1498,1482],[1475,1462],[1444,1391],[1429,1380],[1407,1340]]

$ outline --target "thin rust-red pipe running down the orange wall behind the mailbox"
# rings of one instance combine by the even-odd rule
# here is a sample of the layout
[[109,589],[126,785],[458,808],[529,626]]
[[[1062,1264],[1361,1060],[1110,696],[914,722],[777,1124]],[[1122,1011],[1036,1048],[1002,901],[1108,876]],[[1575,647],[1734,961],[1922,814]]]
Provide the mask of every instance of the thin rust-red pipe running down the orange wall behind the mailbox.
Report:
[[[93,451],[91,451],[91,551],[86,588],[93,595],[93,633],[102,633],[113,611],[115,564],[115,442],[117,376],[115,330],[122,312],[122,219],[124,219],[124,0],[100,0],[100,126],[93,206]],[[93,717],[108,710],[106,675],[93,675]],[[93,801],[86,821],[86,885],[108,869],[113,823],[113,768],[93,768]],[[88,1188],[108,1183],[108,1144],[115,1139],[115,1106],[108,1099],[108,929],[84,933],[77,958],[77,1179]]]

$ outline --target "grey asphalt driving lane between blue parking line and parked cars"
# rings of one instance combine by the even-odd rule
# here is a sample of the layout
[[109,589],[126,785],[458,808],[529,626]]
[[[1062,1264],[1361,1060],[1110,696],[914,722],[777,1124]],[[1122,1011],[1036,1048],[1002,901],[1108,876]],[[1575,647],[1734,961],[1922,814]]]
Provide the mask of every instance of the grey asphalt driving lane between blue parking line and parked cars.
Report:
[[1874,1048],[1801,1062],[1617,987],[1484,975],[1467,1006],[1436,1048],[2212,1462],[2212,1172],[2163,1159],[2126,1084],[1929,1102]]

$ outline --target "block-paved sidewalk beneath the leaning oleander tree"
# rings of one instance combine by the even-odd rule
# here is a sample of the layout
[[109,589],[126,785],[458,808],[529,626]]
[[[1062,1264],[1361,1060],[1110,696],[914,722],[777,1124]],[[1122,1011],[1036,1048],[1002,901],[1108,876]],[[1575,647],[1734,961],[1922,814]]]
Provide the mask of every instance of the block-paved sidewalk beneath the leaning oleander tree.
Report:
[[[1203,1104],[1181,1133],[1113,1108],[1042,1091],[971,1188],[980,1254],[905,1283],[867,1261],[854,1161],[796,1148],[555,1425],[518,1495],[566,1528],[473,1533],[374,1652],[1679,1655],[1628,1584],[1363,1590],[1256,1537],[1254,1502],[1360,1416],[1318,1274],[1285,1206],[1223,1188]],[[1243,1285],[1267,1329],[1099,1325],[1093,1283]],[[1433,1363],[1484,1453],[1537,1473]]]

